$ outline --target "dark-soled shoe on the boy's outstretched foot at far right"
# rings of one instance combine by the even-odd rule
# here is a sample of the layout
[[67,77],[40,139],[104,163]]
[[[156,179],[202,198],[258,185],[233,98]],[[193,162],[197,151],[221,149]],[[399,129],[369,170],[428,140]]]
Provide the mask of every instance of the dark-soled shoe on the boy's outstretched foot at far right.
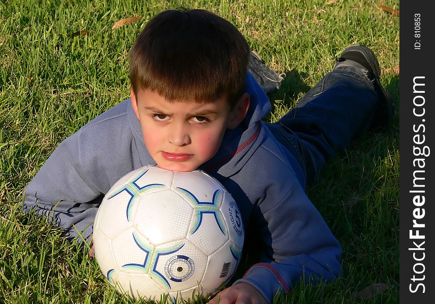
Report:
[[394,106],[393,99],[390,93],[381,85],[378,59],[366,46],[350,46],[341,53],[341,56],[336,58],[337,63],[334,68],[343,65],[352,65],[363,67],[368,70],[368,78],[371,80],[378,94],[379,106],[373,116],[370,130],[384,129],[388,130],[393,123]]

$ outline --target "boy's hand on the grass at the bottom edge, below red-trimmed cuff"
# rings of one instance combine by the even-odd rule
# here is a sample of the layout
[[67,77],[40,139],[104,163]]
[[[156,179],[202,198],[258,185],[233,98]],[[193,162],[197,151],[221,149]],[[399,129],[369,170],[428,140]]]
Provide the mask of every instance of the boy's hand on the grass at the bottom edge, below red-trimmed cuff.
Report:
[[237,283],[225,288],[209,301],[209,304],[267,304],[266,299],[254,286]]

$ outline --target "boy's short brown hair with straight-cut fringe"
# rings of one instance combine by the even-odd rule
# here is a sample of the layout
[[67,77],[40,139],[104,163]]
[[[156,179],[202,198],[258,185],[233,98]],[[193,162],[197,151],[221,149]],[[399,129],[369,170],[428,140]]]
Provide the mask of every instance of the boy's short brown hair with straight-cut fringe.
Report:
[[179,8],[148,21],[133,45],[133,91],[148,89],[167,100],[230,105],[244,93],[250,48],[229,21],[205,10]]

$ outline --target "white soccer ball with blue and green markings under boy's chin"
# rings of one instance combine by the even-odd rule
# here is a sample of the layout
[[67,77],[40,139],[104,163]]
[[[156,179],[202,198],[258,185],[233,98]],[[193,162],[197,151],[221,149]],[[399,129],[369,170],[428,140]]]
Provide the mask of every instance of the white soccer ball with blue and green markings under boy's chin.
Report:
[[193,300],[234,275],[244,230],[231,195],[204,171],[145,166],[106,194],[93,240],[103,275],[121,294]]

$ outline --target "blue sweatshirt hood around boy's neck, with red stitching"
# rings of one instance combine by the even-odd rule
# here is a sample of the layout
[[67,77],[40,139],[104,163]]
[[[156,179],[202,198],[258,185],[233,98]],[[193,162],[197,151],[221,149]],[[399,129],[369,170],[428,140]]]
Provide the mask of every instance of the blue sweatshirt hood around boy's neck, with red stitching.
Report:
[[[226,130],[219,150],[211,160],[201,165],[199,169],[231,176],[240,170],[260,144],[260,120],[270,112],[270,101],[250,72],[246,73],[245,92],[250,95],[251,99],[245,118],[235,129]],[[135,137],[138,155],[141,162],[143,162],[142,165],[145,166],[149,164],[150,157],[131,100],[129,99],[127,102],[129,121]]]

